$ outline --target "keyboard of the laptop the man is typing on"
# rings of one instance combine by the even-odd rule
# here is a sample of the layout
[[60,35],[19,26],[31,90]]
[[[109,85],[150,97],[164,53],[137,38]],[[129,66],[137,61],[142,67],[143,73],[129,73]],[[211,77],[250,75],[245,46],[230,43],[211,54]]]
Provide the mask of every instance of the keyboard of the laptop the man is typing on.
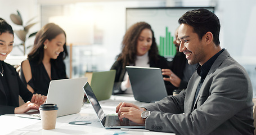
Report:
[[116,116],[116,115],[109,115],[108,116],[109,117],[109,120],[108,120],[108,123],[107,123],[107,125],[119,125],[119,126],[127,126],[127,125],[130,125],[129,123],[129,119],[127,119],[127,118],[123,118],[123,120],[122,120],[122,122],[121,122],[121,120],[119,120],[119,118],[118,118],[118,116]]

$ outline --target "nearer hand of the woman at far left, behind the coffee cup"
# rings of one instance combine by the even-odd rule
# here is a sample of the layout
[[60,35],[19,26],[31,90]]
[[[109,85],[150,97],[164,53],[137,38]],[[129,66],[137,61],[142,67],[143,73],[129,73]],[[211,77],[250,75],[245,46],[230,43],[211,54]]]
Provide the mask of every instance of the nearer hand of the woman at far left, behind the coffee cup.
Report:
[[37,104],[33,104],[32,102],[28,101],[25,104],[21,105],[20,107],[16,107],[14,109],[15,114],[23,114],[32,109],[39,109]]

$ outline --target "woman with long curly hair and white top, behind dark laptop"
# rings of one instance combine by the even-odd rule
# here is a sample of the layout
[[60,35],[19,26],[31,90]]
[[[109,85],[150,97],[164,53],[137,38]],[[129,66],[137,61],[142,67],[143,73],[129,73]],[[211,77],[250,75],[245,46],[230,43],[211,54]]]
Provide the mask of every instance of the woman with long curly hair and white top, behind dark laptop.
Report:
[[123,38],[122,52],[111,67],[116,70],[113,94],[132,93],[125,66],[168,69],[168,61],[159,55],[154,31],[146,22],[133,24]]

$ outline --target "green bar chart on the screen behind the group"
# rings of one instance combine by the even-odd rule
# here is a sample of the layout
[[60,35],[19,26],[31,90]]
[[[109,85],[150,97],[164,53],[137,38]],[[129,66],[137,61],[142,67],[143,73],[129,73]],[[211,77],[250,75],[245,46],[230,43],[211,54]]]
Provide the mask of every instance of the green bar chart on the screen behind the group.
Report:
[[159,55],[164,57],[173,57],[176,54],[176,47],[173,44],[173,36],[170,35],[168,27],[165,29],[165,37],[160,36],[160,43],[158,46]]

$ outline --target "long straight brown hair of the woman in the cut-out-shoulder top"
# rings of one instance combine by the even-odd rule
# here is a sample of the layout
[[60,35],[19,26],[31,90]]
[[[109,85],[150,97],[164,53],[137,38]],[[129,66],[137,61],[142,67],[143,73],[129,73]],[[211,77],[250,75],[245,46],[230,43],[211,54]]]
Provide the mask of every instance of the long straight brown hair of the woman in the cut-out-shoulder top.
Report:
[[[42,27],[41,30],[38,31],[35,41],[34,41],[34,46],[32,48],[32,51],[28,54],[28,60],[33,60],[37,61],[38,64],[41,64],[43,61],[43,56],[44,56],[44,41],[46,39],[52,40],[54,39],[57,35],[64,33],[66,37],[66,33],[63,29],[60,28],[60,26],[49,23],[46,24]],[[59,67],[65,67],[64,64],[64,59],[68,56],[68,51],[66,49],[66,43],[63,46],[64,51],[59,54],[56,60],[51,59],[51,63],[53,66],[55,66],[57,69]],[[64,68],[65,69],[65,68]]]

